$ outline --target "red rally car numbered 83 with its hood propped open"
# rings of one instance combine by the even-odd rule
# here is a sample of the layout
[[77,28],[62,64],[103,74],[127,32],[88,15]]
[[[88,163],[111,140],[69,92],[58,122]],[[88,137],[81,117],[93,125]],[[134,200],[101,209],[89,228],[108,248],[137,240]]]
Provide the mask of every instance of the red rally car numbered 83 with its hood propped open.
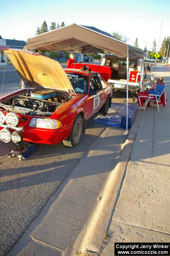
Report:
[[[86,125],[106,115],[112,86],[98,72],[63,69],[48,57],[3,50],[23,80],[23,88],[0,99],[0,139],[76,146]],[[100,112],[100,113],[99,113]]]

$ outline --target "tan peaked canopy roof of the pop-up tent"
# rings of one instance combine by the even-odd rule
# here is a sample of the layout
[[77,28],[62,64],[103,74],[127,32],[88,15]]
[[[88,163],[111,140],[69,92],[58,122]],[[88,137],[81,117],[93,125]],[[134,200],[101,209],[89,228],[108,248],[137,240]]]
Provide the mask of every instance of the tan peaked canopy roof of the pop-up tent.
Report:
[[[90,53],[104,50],[118,57],[144,58],[144,52],[95,27],[72,24],[28,39],[28,50]],[[127,54],[128,52],[128,54]]]

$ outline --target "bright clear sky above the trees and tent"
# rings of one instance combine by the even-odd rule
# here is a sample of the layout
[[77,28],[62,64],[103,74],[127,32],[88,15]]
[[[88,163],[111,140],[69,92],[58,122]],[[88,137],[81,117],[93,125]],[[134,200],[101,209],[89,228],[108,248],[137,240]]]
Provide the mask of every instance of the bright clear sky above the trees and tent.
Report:
[[[108,33],[118,32],[129,38],[133,45],[136,37],[139,47],[157,47],[162,24],[159,48],[164,37],[170,36],[170,1],[53,1],[53,0],[8,0],[1,4],[0,35],[5,39],[25,40],[35,36],[37,27],[44,20],[66,25],[73,23],[97,27]],[[135,16],[139,16],[136,17]],[[156,48],[157,48],[156,47]]]

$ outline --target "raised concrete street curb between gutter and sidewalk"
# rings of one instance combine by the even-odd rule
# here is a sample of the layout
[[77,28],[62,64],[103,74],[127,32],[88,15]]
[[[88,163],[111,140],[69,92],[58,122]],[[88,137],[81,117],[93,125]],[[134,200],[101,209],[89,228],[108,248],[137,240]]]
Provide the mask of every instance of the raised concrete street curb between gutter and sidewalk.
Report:
[[102,191],[102,198],[94,210],[92,220],[82,239],[82,243],[79,247],[79,251],[81,252],[80,256],[94,255],[101,250],[101,245],[104,243],[104,234],[107,232],[111,217],[116,209],[141,114],[142,110],[137,110],[134,122],[123,144],[119,161],[116,167],[110,172],[105,188]]

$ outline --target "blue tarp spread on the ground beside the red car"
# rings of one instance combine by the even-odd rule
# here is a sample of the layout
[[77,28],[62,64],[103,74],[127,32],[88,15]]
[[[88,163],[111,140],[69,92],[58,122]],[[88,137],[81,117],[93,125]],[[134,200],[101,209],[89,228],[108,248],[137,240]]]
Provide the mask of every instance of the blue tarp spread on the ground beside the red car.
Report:
[[[134,118],[135,111],[136,107],[128,105],[128,117],[131,118],[131,120]],[[121,127],[122,116],[126,116],[126,104],[112,103],[107,116],[96,117],[92,122],[126,129]]]

